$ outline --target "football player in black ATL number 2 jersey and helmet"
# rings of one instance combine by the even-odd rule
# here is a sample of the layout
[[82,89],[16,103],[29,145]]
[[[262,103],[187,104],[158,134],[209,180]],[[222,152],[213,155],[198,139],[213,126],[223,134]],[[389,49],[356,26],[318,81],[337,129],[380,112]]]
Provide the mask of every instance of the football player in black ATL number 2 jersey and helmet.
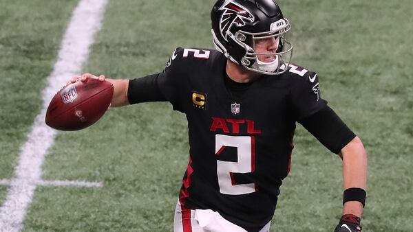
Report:
[[[189,163],[174,231],[269,231],[296,122],[343,161],[335,231],[361,231],[366,151],[321,98],[317,73],[290,62],[291,26],[279,5],[219,0],[211,21],[216,49],[178,47],[160,73],[106,79],[114,84],[112,106],[168,101],[187,117]],[[96,76],[72,81],[78,78]]]

